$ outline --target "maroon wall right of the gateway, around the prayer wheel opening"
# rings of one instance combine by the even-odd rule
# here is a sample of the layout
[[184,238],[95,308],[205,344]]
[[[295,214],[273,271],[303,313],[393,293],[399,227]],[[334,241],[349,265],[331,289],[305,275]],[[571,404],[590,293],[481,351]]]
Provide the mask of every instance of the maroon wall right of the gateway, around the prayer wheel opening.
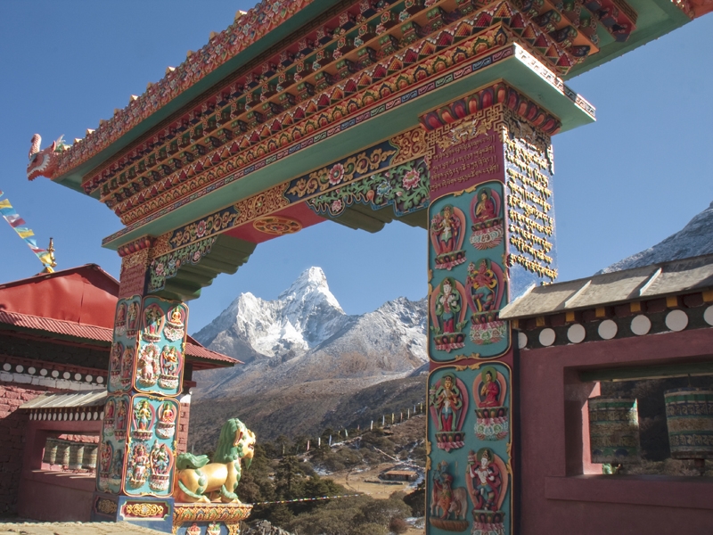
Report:
[[520,351],[521,535],[713,533],[711,478],[596,475],[586,399],[599,387],[578,379],[581,369],[711,353],[713,329]]

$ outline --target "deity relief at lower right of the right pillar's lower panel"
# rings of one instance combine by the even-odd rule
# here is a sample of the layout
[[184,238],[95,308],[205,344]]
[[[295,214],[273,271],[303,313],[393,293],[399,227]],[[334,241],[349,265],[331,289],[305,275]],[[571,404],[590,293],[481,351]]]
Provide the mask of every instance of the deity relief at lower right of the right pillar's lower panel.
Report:
[[465,481],[473,504],[471,535],[504,534],[505,512],[502,509],[509,477],[503,459],[489,448],[477,452],[471,450]]

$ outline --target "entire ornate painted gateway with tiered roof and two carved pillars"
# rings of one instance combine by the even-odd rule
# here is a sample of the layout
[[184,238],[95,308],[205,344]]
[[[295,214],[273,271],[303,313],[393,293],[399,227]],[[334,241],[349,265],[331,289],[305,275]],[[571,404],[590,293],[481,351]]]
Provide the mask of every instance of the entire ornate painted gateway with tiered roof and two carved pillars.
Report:
[[173,514],[185,301],[258,243],[398,219],[428,230],[427,531],[518,532],[517,359],[498,311],[557,276],[550,136],[594,121],[563,80],[709,10],[265,0],[84,139],[37,138],[29,179],[123,224],[103,245],[122,257],[108,386],[125,418],[104,425],[95,517]]

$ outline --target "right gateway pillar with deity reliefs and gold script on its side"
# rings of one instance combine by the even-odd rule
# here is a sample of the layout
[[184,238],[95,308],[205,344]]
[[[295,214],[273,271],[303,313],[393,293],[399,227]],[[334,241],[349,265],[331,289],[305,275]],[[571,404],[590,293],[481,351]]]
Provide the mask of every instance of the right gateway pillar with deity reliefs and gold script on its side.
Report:
[[561,119],[504,82],[420,118],[430,152],[430,534],[518,532],[511,325],[557,276],[550,135]]

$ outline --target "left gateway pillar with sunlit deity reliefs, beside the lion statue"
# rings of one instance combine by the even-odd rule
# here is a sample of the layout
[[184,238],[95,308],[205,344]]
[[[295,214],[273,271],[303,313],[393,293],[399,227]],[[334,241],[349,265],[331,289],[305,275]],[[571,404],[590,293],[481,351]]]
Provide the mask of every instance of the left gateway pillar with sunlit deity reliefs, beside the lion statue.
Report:
[[119,301],[92,517],[170,531],[188,307],[145,294],[151,259],[160,252],[150,238],[119,251]]

